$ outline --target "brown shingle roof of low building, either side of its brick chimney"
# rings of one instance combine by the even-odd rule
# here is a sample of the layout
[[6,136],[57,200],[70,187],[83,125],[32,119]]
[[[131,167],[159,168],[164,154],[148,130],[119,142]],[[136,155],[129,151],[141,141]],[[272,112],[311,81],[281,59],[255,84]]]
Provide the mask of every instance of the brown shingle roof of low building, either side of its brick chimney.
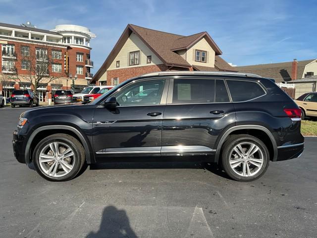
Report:
[[[301,60],[297,64],[297,79],[302,78],[305,66],[314,60]],[[256,65],[247,65],[235,67],[239,72],[244,73],[255,73],[262,77],[273,78],[277,83],[283,81],[290,81],[292,75],[292,63],[281,62],[281,63],[265,63]]]

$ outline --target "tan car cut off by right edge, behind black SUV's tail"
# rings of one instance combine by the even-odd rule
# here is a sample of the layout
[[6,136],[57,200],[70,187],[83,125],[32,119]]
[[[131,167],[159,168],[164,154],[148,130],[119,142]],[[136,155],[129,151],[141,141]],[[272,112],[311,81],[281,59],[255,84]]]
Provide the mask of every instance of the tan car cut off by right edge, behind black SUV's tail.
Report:
[[317,92],[305,93],[295,102],[302,110],[302,119],[317,117]]

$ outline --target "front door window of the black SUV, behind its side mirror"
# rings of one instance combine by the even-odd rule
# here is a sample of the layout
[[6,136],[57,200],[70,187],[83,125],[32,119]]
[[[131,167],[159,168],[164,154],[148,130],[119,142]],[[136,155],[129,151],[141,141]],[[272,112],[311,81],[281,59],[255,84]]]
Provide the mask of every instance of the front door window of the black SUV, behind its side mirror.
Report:
[[149,80],[132,83],[113,96],[120,106],[156,105],[160,103],[164,80]]

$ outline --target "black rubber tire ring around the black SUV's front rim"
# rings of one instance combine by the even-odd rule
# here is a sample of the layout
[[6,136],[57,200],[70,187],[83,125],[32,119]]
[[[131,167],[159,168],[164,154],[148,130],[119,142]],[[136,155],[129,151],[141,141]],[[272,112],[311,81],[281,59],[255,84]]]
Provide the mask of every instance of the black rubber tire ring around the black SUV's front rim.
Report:
[[[58,178],[50,177],[42,171],[41,166],[40,166],[40,162],[39,162],[40,152],[46,145],[48,145],[52,142],[65,143],[67,146],[69,146],[73,150],[73,152],[75,154],[75,164],[74,164],[72,171],[70,171],[67,175],[65,175],[63,177],[58,177]],[[34,163],[36,171],[43,178],[50,180],[50,181],[66,181],[66,180],[69,180],[69,179],[72,179],[73,177],[75,177],[77,175],[77,173],[79,172],[79,170],[81,168],[81,154],[80,154],[78,148],[76,148],[76,145],[71,140],[69,140],[67,138],[59,137],[59,136],[48,137],[48,138],[43,139],[35,147],[34,153],[33,153],[33,163]]]

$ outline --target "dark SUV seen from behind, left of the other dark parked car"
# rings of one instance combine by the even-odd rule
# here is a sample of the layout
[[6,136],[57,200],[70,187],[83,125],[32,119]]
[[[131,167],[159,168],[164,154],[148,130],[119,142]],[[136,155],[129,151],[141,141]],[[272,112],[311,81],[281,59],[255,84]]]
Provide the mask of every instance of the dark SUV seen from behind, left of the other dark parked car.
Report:
[[14,90],[11,94],[11,107],[15,106],[39,106],[39,97],[32,90]]

